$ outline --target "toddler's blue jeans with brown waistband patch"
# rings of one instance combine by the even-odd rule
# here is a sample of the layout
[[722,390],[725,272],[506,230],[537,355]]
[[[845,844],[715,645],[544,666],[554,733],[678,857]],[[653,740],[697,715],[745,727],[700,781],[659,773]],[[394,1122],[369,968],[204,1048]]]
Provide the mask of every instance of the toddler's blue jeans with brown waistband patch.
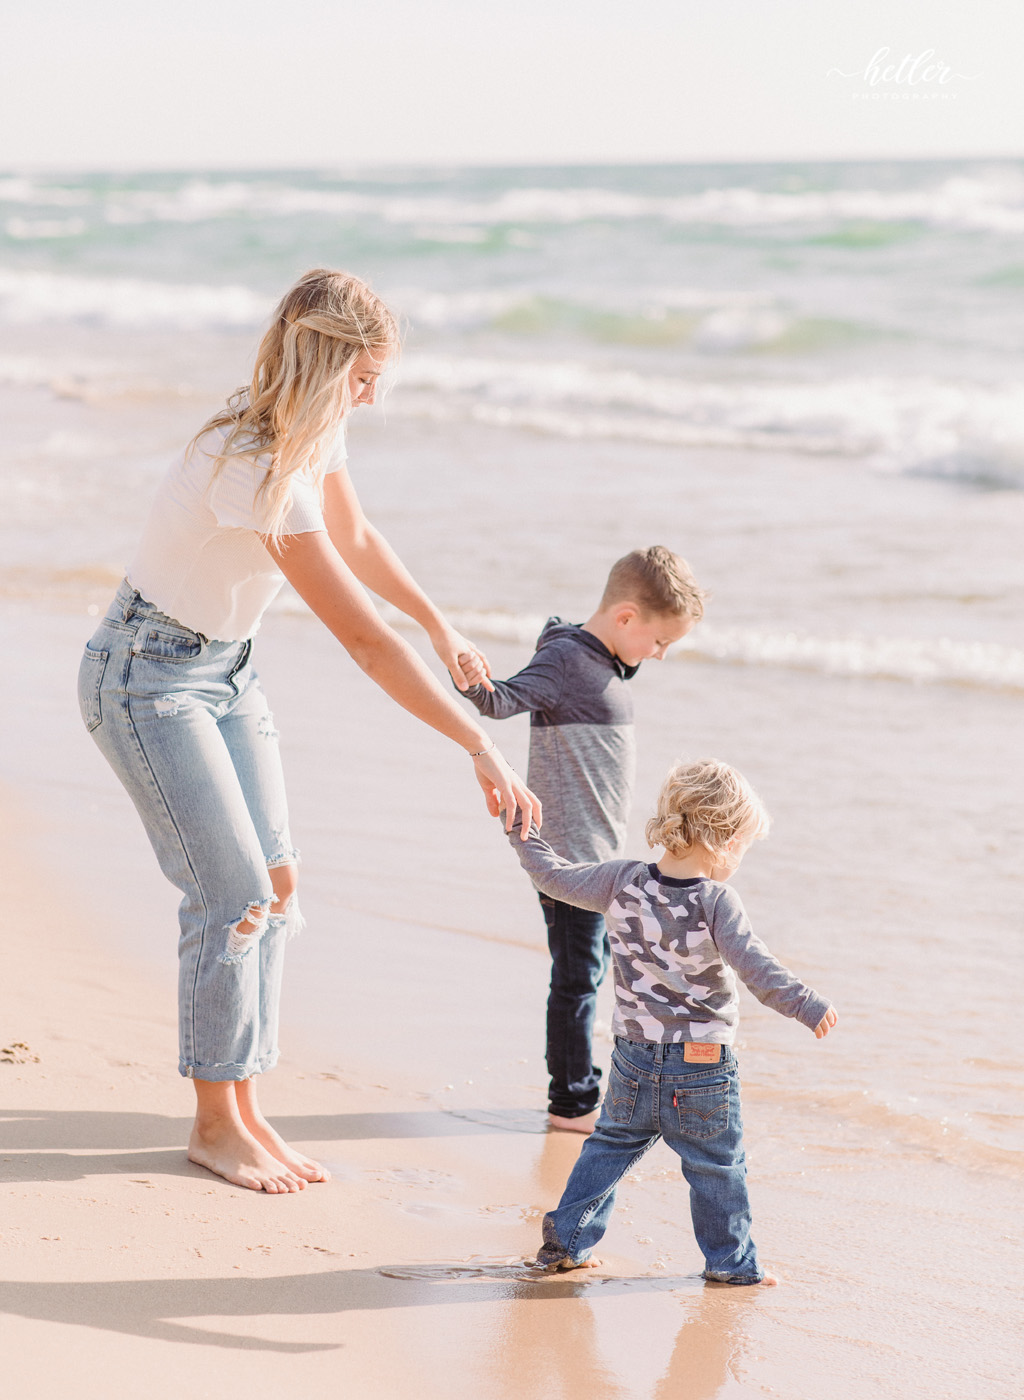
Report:
[[682,1044],[615,1042],[608,1089],[558,1208],[544,1218],[538,1264],[583,1263],[608,1229],[615,1189],[664,1137],[689,1184],[705,1278],[759,1284],[751,1239],[740,1075],[728,1046],[719,1064],[688,1064]]

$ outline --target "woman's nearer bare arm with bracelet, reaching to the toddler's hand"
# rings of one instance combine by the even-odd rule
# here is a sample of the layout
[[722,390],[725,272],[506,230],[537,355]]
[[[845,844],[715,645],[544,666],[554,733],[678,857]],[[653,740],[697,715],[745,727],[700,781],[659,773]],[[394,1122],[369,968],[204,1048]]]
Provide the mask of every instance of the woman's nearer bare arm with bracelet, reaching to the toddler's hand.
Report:
[[530,819],[541,825],[541,804],[508,767],[490,738],[441,689],[412,647],[381,619],[356,582],[352,570],[324,531],[305,535],[263,536],[263,543],[296,592],[338,637],[371,680],[403,710],[431,729],[461,745],[473,757],[476,781],[483,788],[487,811],[506,813],[506,830],[523,811],[524,840]]

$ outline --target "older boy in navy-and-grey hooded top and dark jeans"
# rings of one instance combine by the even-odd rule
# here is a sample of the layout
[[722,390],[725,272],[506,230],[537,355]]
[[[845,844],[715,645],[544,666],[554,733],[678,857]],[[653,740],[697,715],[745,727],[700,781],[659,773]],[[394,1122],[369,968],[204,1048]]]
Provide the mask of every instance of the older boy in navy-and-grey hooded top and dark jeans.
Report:
[[[530,711],[527,781],[544,804],[544,834],[566,861],[622,854],[633,788],[633,700],[626,682],[661,661],[703,616],[685,560],[661,545],[636,549],[608,575],[583,624],[549,617],[532,661],[510,680],[466,690],[480,714]],[[548,995],[549,1124],[590,1133],[601,1098],[591,1035],[608,969],[601,911],[541,892],[551,948]]]

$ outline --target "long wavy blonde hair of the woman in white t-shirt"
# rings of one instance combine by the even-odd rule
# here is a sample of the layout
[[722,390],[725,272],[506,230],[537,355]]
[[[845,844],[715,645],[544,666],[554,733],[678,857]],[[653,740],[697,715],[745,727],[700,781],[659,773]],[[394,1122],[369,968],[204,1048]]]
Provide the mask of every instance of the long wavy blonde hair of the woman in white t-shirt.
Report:
[[266,533],[277,533],[291,497],[291,477],[310,469],[322,486],[321,444],[352,407],[349,371],[363,351],[398,351],[398,322],[364,281],[314,267],[290,287],[259,342],[252,381],[237,389],[189,444],[227,428],[214,473],[230,456],[269,456],[256,493]]

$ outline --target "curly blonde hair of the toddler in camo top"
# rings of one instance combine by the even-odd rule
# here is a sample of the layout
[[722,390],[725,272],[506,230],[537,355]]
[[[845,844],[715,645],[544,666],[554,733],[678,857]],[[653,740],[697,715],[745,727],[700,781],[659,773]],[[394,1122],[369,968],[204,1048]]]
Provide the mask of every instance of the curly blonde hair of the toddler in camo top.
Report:
[[702,847],[719,862],[734,836],[768,836],[769,816],[742,773],[717,759],[677,763],[658,792],[647,822],[649,846],[670,855]]

